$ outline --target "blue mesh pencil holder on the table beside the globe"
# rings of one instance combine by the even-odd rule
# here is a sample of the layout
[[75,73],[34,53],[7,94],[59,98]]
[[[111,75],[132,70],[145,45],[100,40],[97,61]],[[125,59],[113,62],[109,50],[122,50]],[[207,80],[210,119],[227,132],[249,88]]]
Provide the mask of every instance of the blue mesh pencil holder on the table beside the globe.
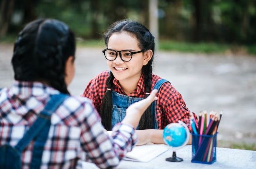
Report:
[[192,160],[202,164],[213,164],[216,161],[217,134],[192,134]]

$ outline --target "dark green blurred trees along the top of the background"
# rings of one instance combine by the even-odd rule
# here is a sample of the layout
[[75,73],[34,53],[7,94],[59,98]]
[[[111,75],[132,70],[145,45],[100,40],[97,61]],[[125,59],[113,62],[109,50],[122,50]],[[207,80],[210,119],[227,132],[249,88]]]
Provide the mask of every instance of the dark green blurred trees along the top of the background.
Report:
[[[160,39],[256,43],[256,0],[158,0]],[[36,18],[55,18],[98,39],[117,20],[149,26],[148,0],[0,0],[0,36]]]

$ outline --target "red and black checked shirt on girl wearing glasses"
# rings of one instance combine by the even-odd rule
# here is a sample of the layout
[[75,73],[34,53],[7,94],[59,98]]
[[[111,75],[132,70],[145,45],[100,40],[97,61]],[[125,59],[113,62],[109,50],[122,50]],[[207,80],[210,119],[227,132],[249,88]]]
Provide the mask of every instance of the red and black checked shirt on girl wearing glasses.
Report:
[[[88,97],[93,101],[95,108],[100,111],[101,102],[106,92],[106,79],[109,75],[109,71],[104,71],[98,74],[94,79],[92,79],[86,86],[82,96]],[[153,89],[155,83],[162,79],[159,76],[152,74],[152,87]],[[114,90],[117,93],[124,94],[119,81],[114,79]],[[137,88],[130,93],[128,96],[131,97],[145,97],[144,90],[144,75],[142,74]],[[190,110],[186,107],[186,104],[179,92],[171,85],[171,83],[164,83],[158,91],[158,100],[156,101],[156,118],[158,121],[158,128],[164,129],[164,127],[171,122],[178,122],[178,120],[183,121],[190,129],[189,121]],[[194,114],[194,118],[198,123],[197,116]]]

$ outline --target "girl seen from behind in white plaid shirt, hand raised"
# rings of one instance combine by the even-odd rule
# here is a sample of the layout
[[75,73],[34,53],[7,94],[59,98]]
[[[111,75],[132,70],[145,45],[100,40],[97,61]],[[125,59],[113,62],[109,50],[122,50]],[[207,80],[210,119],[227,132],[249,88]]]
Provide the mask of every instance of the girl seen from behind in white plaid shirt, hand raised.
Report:
[[82,168],[81,160],[113,168],[136,144],[134,128],[156,100],[129,106],[113,137],[88,98],[71,96],[75,38],[58,20],[26,25],[14,45],[15,82],[0,90],[0,168]]

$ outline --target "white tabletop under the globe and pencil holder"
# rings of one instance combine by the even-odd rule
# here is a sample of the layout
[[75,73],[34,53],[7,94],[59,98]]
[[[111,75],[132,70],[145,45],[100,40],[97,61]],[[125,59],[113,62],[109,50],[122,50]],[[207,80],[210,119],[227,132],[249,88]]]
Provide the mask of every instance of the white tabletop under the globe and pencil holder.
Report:
[[[176,151],[182,162],[168,162],[166,158],[172,156],[168,150],[149,162],[121,161],[117,169],[256,169],[256,151],[217,148],[217,161],[213,164],[199,164],[191,162],[191,145],[186,145]],[[82,162],[84,169],[98,169],[96,165]]]

